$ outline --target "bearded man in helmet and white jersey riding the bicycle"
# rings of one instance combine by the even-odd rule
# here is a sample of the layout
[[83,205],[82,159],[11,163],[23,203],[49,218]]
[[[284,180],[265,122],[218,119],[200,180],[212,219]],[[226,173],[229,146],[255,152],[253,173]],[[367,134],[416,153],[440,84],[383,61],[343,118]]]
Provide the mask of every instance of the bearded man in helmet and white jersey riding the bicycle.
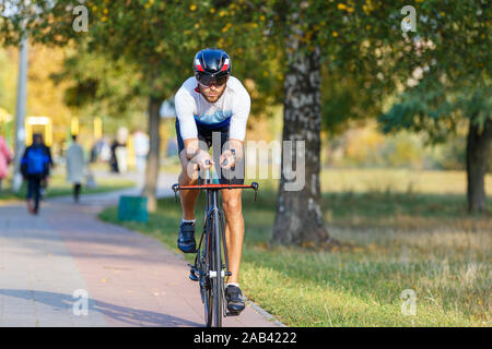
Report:
[[[212,165],[221,173],[220,183],[244,183],[243,142],[250,98],[243,84],[231,75],[231,58],[223,50],[208,48],[199,51],[194,60],[195,76],[186,80],[176,93],[176,134],[181,163],[179,185],[196,184],[198,167],[208,169]],[[218,142],[212,144],[212,137],[218,140],[218,135],[220,145],[215,144]],[[209,154],[211,145],[213,158]],[[197,196],[198,191],[180,193],[183,219],[177,244],[184,253],[196,252]],[[232,272],[227,278],[225,297],[227,310],[238,314],[245,308],[238,284],[244,237],[241,190],[222,190],[222,201],[229,266]]]

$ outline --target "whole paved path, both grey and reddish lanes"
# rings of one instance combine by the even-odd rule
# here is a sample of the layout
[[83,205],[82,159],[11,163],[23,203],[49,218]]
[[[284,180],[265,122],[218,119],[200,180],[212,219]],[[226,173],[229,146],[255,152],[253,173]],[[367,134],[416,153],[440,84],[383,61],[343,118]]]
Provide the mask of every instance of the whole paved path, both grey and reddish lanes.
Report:
[[[160,178],[161,195],[175,180]],[[97,220],[119,194],[82,196],[79,205],[52,198],[37,217],[22,203],[0,206],[0,326],[203,326],[186,262],[150,237]],[[248,305],[224,325],[276,324]]]

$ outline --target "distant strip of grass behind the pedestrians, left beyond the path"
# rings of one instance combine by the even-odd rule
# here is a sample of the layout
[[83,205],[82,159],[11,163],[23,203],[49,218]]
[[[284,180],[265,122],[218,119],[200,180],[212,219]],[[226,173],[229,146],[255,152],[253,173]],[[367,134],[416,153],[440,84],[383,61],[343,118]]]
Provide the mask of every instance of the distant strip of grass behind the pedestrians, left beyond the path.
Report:
[[[96,178],[97,186],[94,189],[86,189],[82,186],[81,194],[95,194],[105,193],[115,190],[131,188],[136,183],[126,179],[118,178]],[[73,186],[71,183],[67,182],[65,174],[54,174],[50,177],[48,189],[46,191],[47,197],[71,195]],[[2,181],[2,193],[0,196],[0,202],[24,200],[26,195],[26,183],[24,182],[21,190],[14,193],[10,188],[10,180]]]

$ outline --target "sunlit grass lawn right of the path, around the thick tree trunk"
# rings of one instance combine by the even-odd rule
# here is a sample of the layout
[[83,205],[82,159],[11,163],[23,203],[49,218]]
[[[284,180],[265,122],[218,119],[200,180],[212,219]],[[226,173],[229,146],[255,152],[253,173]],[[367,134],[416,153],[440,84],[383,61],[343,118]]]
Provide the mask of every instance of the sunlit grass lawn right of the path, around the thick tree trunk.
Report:
[[[492,205],[467,214],[465,173],[325,170],[321,183],[327,228],[350,246],[271,246],[277,184],[260,182],[256,203],[245,193],[239,277],[249,299],[290,326],[491,325]],[[492,176],[487,183],[490,193]],[[116,207],[101,218],[120,224]],[[124,225],[177,251],[179,219],[173,197],[149,224]],[[415,292],[414,316],[401,312],[403,290]]]

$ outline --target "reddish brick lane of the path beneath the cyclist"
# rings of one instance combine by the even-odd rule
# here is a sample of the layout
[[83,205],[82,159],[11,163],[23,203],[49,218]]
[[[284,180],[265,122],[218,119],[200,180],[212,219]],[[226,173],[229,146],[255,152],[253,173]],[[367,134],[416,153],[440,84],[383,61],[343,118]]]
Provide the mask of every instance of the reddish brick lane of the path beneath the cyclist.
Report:
[[[98,207],[51,202],[47,219],[65,242],[107,326],[203,326],[198,285],[162,243],[97,220]],[[254,308],[224,326],[277,326]]]

